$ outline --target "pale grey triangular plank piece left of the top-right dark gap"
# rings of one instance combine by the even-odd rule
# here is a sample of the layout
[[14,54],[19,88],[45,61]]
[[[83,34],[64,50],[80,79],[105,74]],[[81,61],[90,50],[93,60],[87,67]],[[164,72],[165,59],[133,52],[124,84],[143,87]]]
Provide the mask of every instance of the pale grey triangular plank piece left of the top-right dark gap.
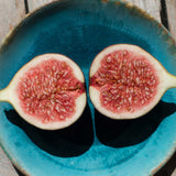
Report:
[[161,22],[161,1],[160,0],[128,0],[133,4],[140,7],[141,9],[145,10],[152,16]]

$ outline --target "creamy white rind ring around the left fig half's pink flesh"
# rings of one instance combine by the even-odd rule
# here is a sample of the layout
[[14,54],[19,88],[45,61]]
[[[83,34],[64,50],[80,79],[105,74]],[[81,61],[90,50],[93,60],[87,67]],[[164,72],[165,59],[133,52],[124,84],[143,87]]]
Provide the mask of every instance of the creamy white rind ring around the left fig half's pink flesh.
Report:
[[[42,64],[44,61],[50,59],[56,59],[61,62],[65,62],[70,69],[73,70],[73,75],[75,78],[80,81],[84,85],[84,92],[80,94],[76,100],[75,100],[75,114],[70,118],[66,118],[64,121],[54,121],[54,122],[47,122],[43,123],[41,120],[37,120],[37,118],[33,118],[33,116],[26,114],[23,109],[20,106],[20,100],[16,94],[16,88],[19,80],[24,76],[24,74],[31,69],[36,67],[37,65]],[[43,54],[40,56],[34,57],[31,62],[25,64],[13,77],[9,86],[0,91],[0,101],[8,101],[10,102],[14,109],[18,111],[18,113],[29,123],[33,124],[34,127],[37,127],[43,130],[58,130],[66,127],[69,127],[75,121],[79,119],[81,116],[85,107],[86,107],[86,91],[85,91],[85,77],[79,68],[79,66],[72,61],[70,58],[62,55],[62,54]]]

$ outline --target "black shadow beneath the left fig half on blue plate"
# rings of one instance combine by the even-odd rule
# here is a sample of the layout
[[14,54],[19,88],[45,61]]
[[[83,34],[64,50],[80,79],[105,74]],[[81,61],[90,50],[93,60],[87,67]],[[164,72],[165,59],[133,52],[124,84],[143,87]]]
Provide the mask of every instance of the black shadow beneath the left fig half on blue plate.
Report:
[[6,111],[10,122],[20,127],[38,147],[45,152],[72,157],[85,153],[94,142],[90,109],[86,107],[77,122],[63,130],[47,131],[37,129],[25,122],[15,110]]

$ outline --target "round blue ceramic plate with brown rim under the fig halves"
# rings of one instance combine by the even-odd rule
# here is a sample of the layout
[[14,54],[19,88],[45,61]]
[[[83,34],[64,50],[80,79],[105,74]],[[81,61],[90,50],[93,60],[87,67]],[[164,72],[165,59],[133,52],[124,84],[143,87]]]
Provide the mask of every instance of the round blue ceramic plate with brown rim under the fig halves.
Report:
[[[135,44],[176,75],[176,46],[168,32],[142,10],[123,1],[61,0],[20,23],[0,50],[0,88],[34,56],[61,53],[88,72],[106,46]],[[176,89],[136,120],[110,120],[88,99],[70,128],[43,131],[0,102],[0,143],[11,161],[31,176],[146,176],[176,147]]]

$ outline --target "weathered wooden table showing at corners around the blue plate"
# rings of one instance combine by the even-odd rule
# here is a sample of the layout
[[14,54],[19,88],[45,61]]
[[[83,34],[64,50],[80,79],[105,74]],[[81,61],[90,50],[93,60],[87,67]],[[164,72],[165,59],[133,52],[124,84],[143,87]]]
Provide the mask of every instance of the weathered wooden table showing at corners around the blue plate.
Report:
[[[0,0],[0,43],[26,13],[54,0]],[[129,0],[163,23],[176,40],[176,0]],[[23,176],[0,147],[0,176]],[[155,176],[176,176],[176,153]]]

